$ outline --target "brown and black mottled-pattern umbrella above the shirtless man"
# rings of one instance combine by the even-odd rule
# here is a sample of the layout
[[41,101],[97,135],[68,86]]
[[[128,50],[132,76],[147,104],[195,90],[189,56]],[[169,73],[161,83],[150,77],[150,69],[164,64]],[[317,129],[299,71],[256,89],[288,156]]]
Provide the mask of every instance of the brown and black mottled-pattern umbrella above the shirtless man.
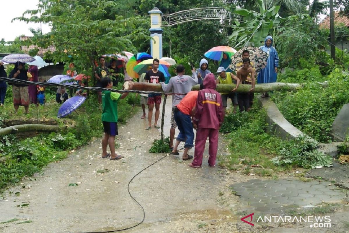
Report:
[[230,59],[231,63],[229,68],[231,70],[236,70],[236,64],[242,60],[242,52],[247,50],[250,52],[250,60],[253,63],[256,73],[265,68],[268,63],[269,55],[258,47],[243,47],[237,51]]

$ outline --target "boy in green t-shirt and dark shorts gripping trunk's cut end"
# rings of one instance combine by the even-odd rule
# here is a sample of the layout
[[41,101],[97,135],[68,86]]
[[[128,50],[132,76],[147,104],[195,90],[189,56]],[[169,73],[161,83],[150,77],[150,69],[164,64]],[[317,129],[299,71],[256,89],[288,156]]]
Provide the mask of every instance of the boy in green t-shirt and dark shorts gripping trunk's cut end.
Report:
[[[133,83],[129,82],[132,89]],[[108,78],[102,78],[101,87],[113,88],[113,81]],[[104,136],[102,139],[102,158],[110,156],[110,160],[122,159],[124,156],[115,153],[115,136],[118,135],[118,101],[124,99],[128,93],[120,94],[104,90],[102,92],[102,122]],[[107,153],[109,145],[110,153]]]

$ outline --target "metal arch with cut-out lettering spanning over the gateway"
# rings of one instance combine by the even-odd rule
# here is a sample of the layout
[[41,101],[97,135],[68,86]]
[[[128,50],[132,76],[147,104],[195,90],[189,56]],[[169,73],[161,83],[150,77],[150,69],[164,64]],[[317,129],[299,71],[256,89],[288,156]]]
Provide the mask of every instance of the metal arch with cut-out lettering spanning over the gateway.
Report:
[[[218,20],[235,20],[236,14],[232,14],[229,10],[223,7],[205,7],[194,8],[189,10],[182,10],[176,13],[162,16],[163,27],[169,27],[180,23],[206,20],[206,19],[218,19]],[[166,23],[166,24],[165,24]]]

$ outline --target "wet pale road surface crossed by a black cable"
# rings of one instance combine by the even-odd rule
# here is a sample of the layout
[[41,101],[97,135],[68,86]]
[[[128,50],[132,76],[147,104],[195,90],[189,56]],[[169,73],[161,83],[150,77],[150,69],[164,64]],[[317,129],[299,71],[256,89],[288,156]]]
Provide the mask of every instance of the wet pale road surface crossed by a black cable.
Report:
[[[5,198],[0,201],[0,233],[111,231],[139,223],[143,218],[142,210],[129,196],[128,182],[166,155],[148,152],[154,139],[160,138],[160,131],[144,130],[148,121],[141,119],[141,115],[140,111],[126,125],[120,125],[117,152],[125,159],[102,159],[101,139],[96,139],[72,152],[67,159],[50,164],[42,173],[23,179],[18,186],[6,191]],[[166,104],[166,135],[170,117],[171,97]],[[220,137],[218,154],[226,154],[227,141],[222,135]],[[193,154],[193,150],[189,153]],[[200,169],[188,167],[191,161],[181,160],[180,153],[166,156],[138,175],[130,184],[130,192],[144,207],[146,216],[143,224],[126,232],[349,232],[349,208],[339,198],[336,201],[344,208],[336,206],[336,211],[328,213],[333,219],[333,227],[329,229],[310,229],[309,224],[256,224],[257,219],[253,219],[254,227],[243,223],[240,218],[250,213],[246,211],[254,211],[255,216],[268,214],[257,210],[259,202],[253,205],[246,201],[251,195],[253,198],[265,196],[265,192],[253,186],[250,187],[254,188],[252,194],[235,195],[231,185],[241,187],[246,182],[254,182],[256,177],[211,168],[207,155],[206,150]],[[266,177],[262,180],[274,182]],[[69,187],[75,183],[78,185]],[[312,182],[303,183],[306,187],[313,185]],[[239,190],[236,191],[239,194]],[[14,195],[16,192],[20,195]],[[29,205],[21,207],[23,204]],[[285,213],[286,209],[279,204],[282,203],[269,201],[267,205],[282,208],[275,209],[274,214]],[[20,220],[1,224],[14,218]],[[26,220],[32,222],[16,224]]]

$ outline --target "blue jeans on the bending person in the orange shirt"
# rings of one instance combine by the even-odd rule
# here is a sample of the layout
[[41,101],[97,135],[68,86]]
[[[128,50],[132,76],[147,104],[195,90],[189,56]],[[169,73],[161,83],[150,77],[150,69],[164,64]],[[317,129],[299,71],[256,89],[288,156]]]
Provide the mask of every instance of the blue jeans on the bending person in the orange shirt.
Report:
[[177,123],[179,134],[177,141],[185,141],[184,147],[191,148],[194,143],[194,131],[192,119],[181,111],[174,112],[174,120]]

